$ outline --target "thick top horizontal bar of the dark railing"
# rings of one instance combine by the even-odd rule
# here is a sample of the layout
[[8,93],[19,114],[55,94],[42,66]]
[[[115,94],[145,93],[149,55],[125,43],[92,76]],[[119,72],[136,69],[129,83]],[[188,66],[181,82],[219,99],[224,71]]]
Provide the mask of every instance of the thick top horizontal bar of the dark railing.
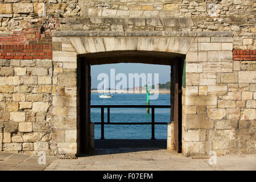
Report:
[[90,105],[91,108],[171,108],[170,105]]

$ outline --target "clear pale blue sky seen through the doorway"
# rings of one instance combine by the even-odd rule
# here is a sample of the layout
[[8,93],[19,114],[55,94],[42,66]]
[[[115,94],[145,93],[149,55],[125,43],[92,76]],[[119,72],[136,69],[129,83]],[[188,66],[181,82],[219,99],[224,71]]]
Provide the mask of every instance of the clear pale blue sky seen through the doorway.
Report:
[[[118,63],[118,64],[102,64],[102,65],[92,65],[91,66],[91,78],[92,78],[92,86],[91,88],[97,88],[98,84],[103,83],[104,80],[97,80],[97,77],[101,73],[106,73],[109,77],[109,86],[110,87],[110,69],[114,69],[115,76],[118,73],[124,73],[127,77],[127,85],[129,85],[129,73],[145,73],[148,76],[148,73],[152,74],[152,82],[154,82],[154,73],[159,74],[159,83],[165,84],[166,82],[170,81],[170,72],[171,67],[168,65],[156,65],[156,64],[141,64],[141,63]],[[102,74],[101,74],[102,75]],[[100,76],[101,76],[100,75]],[[113,78],[112,78],[113,79]],[[119,82],[119,80],[115,80],[115,85]],[[135,82],[135,81],[134,81]],[[141,82],[140,82],[141,84]],[[140,85],[141,86],[141,85]]]

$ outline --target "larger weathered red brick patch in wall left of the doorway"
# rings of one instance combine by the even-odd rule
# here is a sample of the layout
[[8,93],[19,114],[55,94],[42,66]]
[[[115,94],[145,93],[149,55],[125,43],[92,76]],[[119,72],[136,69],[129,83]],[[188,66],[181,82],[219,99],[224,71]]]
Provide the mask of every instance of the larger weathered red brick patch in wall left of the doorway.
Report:
[[31,29],[2,34],[0,59],[52,59],[52,37]]

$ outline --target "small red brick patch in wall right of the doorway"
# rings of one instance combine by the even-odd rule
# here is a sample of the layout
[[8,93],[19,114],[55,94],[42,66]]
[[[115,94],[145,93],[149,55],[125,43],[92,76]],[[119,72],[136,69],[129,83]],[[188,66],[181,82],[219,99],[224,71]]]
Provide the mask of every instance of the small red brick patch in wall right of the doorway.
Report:
[[233,60],[255,61],[256,50],[233,50]]

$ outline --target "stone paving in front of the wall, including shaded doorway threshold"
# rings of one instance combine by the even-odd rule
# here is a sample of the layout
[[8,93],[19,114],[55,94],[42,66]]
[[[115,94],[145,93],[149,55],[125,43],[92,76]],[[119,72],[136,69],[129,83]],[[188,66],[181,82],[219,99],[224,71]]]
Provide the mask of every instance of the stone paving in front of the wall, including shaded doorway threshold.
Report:
[[[122,144],[122,145],[121,145]],[[38,155],[0,152],[0,171],[215,171],[256,170],[256,155],[218,156],[217,164],[208,159],[186,158],[164,149],[166,140],[95,140],[96,149],[77,159],[47,156],[38,164]],[[141,147],[143,146],[143,147]]]

